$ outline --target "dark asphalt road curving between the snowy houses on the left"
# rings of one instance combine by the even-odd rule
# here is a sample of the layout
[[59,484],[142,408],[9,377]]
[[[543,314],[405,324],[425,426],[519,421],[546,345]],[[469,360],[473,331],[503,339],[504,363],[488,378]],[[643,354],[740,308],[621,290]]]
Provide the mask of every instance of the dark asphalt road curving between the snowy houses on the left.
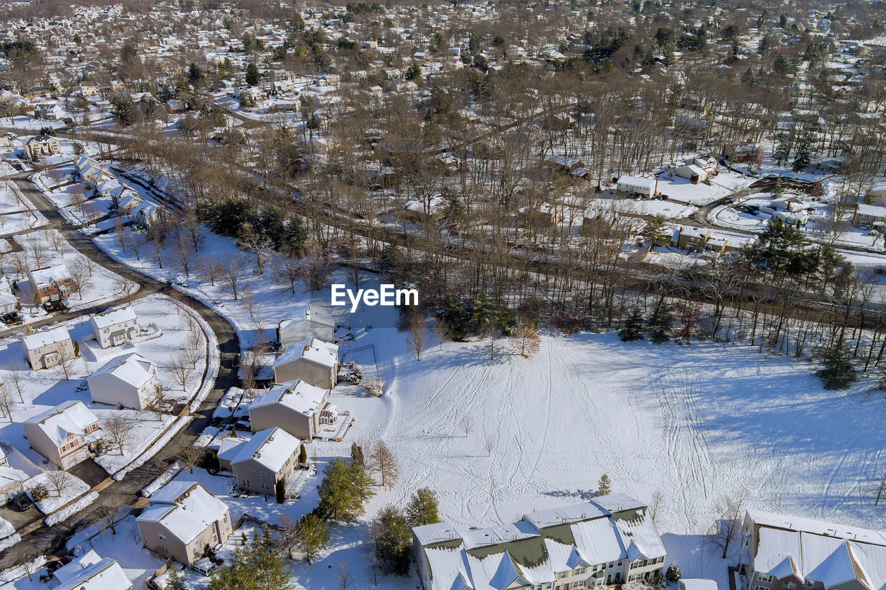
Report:
[[[179,291],[173,291],[167,283],[153,279],[150,276],[145,276],[124,264],[120,264],[120,262],[113,260],[105,254],[97,245],[92,243],[89,237],[83,236],[74,229],[62,217],[61,213],[58,213],[56,207],[44,198],[43,194],[36,190],[31,182],[26,180],[29,174],[31,173],[16,175],[12,180],[18,184],[19,189],[34,204],[36,209],[43,213],[50,225],[61,231],[74,248],[84,256],[95,260],[102,267],[108,268],[118,275],[128,278],[130,281],[140,284],[141,287],[134,297],[144,297],[144,295],[151,293],[164,293],[196,310],[214,331],[221,353],[221,366],[219,367],[218,377],[215,379],[214,388],[206,396],[206,400],[200,405],[197,412],[193,414],[194,419],[191,420],[188,428],[176,434],[167,446],[164,446],[156,455],[159,459],[174,457],[183,445],[187,443],[189,436],[198,434],[206,428],[213,410],[218,405],[224,392],[230,387],[239,384],[237,369],[234,367],[234,357],[240,352],[237,332],[234,331],[227,320],[221,317],[221,315],[216,314],[209,307],[206,307],[198,299],[194,299]],[[79,312],[78,315],[85,313],[85,311]],[[53,321],[57,319],[58,316],[54,317]],[[157,471],[152,469],[152,463],[152,461],[146,462],[143,467],[129,472],[122,480],[113,482],[105,487],[105,489],[99,492],[97,502],[111,501],[120,506],[135,504],[140,499],[138,492],[158,475]],[[93,484],[93,482],[89,483]],[[0,553],[0,569],[12,566],[23,556],[51,555],[62,550],[71,533],[79,526],[82,526],[82,524],[89,522],[89,509],[86,510],[86,514],[77,514],[67,519],[64,523],[57,524],[51,528],[43,526],[22,537],[19,544]]]

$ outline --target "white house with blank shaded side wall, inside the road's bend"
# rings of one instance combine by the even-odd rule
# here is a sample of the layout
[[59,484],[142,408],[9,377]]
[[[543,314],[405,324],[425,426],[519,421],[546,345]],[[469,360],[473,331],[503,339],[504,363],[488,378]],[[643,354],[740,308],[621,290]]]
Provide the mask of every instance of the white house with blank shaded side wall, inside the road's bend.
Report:
[[159,391],[157,365],[138,353],[122,354],[86,377],[86,384],[92,401],[144,409]]

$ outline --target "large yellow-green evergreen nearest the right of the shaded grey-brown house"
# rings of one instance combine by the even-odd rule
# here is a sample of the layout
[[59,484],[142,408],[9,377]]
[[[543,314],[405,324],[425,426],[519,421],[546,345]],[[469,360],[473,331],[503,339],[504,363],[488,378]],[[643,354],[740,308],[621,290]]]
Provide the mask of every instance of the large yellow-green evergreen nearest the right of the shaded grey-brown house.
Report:
[[363,515],[366,501],[375,495],[372,484],[372,478],[361,464],[333,459],[323,470],[323,481],[317,485],[318,514],[330,520],[356,521]]

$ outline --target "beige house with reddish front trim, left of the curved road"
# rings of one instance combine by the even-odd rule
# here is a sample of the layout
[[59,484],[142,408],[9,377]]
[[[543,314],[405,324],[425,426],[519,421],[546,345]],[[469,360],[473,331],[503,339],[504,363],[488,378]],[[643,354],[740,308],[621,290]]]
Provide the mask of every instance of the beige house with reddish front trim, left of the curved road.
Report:
[[80,400],[66,401],[25,421],[27,442],[62,469],[86,459],[97,430],[98,418]]

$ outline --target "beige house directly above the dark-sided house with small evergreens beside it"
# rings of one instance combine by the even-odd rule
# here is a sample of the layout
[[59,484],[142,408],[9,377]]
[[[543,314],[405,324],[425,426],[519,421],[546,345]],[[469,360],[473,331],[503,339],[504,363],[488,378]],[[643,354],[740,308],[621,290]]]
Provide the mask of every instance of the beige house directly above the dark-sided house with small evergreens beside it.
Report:
[[274,385],[249,405],[253,432],[278,426],[298,439],[313,439],[322,423],[335,422],[328,396],[329,390],[305,381]]

